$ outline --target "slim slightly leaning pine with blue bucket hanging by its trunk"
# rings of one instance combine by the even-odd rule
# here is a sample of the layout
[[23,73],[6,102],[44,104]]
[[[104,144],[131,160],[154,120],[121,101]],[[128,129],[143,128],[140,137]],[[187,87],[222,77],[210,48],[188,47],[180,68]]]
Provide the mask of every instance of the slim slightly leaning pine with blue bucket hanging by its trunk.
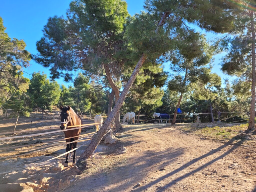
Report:
[[193,91],[192,84],[197,81],[207,83],[213,52],[205,37],[188,27],[182,29],[180,35],[175,39],[177,39],[176,48],[170,51],[170,68],[174,74],[168,82],[168,89],[179,92],[180,97],[174,111],[172,124],[176,122],[177,109],[183,94]]

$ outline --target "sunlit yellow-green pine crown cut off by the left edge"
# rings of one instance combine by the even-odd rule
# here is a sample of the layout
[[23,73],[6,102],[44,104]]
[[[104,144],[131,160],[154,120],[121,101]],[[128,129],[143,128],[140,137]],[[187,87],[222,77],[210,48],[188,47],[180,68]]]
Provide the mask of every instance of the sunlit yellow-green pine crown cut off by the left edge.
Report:
[[25,42],[11,39],[5,30],[0,17],[0,110],[19,91],[24,81],[22,68],[27,67],[31,59],[30,53],[25,50]]

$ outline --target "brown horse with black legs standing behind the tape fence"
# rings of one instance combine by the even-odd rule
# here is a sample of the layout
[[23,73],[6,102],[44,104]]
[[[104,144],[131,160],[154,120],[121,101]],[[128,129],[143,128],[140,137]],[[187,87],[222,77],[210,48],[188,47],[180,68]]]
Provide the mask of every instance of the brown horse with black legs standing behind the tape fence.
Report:
[[[60,120],[61,120],[60,129],[61,130],[65,130],[67,126],[71,126],[71,125],[82,125],[82,120],[81,120],[80,116],[77,115],[69,105],[66,107],[60,106],[60,110],[61,110],[61,113],[60,113]],[[77,126],[77,127],[81,127],[81,126]],[[67,129],[72,129],[72,128],[74,128],[74,127],[70,127],[70,128],[67,127]],[[81,130],[82,130],[82,128],[74,129],[74,130],[70,130],[70,131],[64,131],[65,138],[77,136],[74,138],[66,139],[66,142],[68,143],[68,142],[78,140]],[[68,152],[76,147],[77,147],[77,142],[67,144],[66,152]],[[68,156],[69,156],[69,154],[66,155],[66,161],[64,163],[65,167],[68,166]],[[75,163],[76,163],[76,150],[73,151],[73,165]]]

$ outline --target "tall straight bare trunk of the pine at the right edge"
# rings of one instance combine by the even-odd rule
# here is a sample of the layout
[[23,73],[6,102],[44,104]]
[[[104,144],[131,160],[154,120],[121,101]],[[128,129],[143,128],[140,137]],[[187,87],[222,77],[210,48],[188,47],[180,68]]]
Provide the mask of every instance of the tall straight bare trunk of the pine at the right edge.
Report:
[[252,100],[250,107],[250,119],[248,130],[254,130],[254,119],[255,119],[255,82],[256,82],[256,72],[255,72],[255,29],[254,29],[254,20],[253,20],[253,11],[251,11],[251,32],[252,32]]

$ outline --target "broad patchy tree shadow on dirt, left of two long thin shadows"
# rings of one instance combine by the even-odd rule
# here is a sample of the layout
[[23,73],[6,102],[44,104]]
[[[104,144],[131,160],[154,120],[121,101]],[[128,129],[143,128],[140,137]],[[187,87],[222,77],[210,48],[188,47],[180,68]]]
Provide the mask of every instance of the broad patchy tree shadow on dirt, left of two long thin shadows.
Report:
[[[121,167],[115,168],[116,170],[114,172],[109,173],[108,175],[103,173],[95,173],[92,175],[85,176],[83,179],[88,181],[91,180],[91,185],[90,183],[84,183],[81,184],[84,185],[81,187],[90,187],[93,188],[94,191],[97,191],[101,187],[107,186],[110,183],[112,183],[113,180],[111,175],[117,174],[120,176],[115,177],[114,182],[117,183],[118,186],[116,188],[112,188],[111,191],[120,191],[120,189],[128,187],[127,185],[130,185],[131,183],[135,184],[133,188],[136,189],[136,183],[138,183],[138,180],[141,180],[141,176],[145,178],[149,177],[148,173],[150,173],[152,169],[159,171],[159,169],[165,166],[165,164],[175,162],[176,158],[182,155],[183,153],[183,148],[167,148],[166,150],[161,152],[159,152],[158,150],[140,151],[138,153],[139,155],[133,159],[132,163],[127,163],[122,165]],[[95,178],[97,178],[97,180],[100,180],[101,186],[94,184],[93,180],[95,180]],[[129,180],[129,182],[124,182],[127,180]],[[69,190],[72,190],[72,188],[70,188]]]

